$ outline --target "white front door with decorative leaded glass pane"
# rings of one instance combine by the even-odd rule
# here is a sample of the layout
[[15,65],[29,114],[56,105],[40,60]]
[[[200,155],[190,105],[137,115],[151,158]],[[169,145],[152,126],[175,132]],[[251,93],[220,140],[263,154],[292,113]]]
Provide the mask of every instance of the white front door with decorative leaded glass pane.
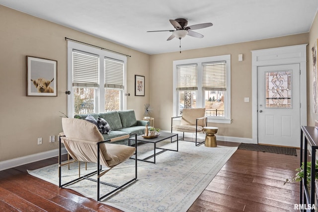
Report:
[[300,64],[257,67],[257,78],[258,143],[299,146]]

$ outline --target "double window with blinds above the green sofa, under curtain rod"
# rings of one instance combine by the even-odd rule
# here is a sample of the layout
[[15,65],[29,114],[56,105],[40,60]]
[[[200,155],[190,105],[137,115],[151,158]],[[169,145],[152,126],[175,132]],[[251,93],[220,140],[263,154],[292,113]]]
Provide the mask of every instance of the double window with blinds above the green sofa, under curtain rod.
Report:
[[126,109],[126,63],[125,56],[68,41],[69,116]]

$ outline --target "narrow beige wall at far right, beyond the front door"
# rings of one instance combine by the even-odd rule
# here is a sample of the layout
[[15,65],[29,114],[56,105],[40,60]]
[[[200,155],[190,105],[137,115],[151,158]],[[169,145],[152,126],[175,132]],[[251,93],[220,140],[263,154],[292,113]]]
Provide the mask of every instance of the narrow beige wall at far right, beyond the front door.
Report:
[[318,14],[316,14],[312,28],[309,32],[309,45],[307,47],[307,114],[308,126],[315,126],[315,120],[318,120],[318,115],[314,113],[314,99],[313,99],[313,60],[312,48],[318,39]]

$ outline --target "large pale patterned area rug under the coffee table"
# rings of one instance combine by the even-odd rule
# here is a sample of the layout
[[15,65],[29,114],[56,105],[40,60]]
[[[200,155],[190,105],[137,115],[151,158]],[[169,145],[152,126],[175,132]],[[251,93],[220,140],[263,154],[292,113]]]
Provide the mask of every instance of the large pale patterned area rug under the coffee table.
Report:
[[[164,148],[176,147],[175,142],[160,143],[164,144]],[[195,146],[192,142],[179,141],[179,151],[165,151],[157,155],[156,164],[138,161],[138,180],[101,203],[124,212],[186,212],[236,150],[237,147],[211,148],[205,147],[204,144]],[[151,153],[153,144],[138,145],[138,157]],[[116,166],[102,177],[102,181],[120,185],[121,181],[132,179],[134,163],[134,159],[129,159]],[[87,171],[81,167],[81,174],[94,170],[95,166],[92,165],[88,164]],[[57,164],[28,172],[58,185]],[[78,174],[78,163],[71,164],[70,170],[64,166],[62,183],[77,178]],[[110,191],[110,187],[102,186],[101,195]],[[81,180],[67,188],[96,200],[95,182]]]

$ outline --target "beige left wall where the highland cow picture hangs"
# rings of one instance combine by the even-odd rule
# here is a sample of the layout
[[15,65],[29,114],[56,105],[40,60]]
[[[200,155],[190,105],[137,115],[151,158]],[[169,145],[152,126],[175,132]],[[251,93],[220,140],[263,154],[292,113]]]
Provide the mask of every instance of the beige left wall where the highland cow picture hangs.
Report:
[[[62,131],[59,111],[67,111],[65,37],[132,56],[127,59],[127,109],[143,117],[150,94],[149,55],[1,5],[0,35],[0,161],[58,148],[49,136]],[[26,56],[58,61],[57,97],[26,96]],[[134,96],[135,74],[145,76],[145,97]],[[40,137],[43,144],[37,145]]]

